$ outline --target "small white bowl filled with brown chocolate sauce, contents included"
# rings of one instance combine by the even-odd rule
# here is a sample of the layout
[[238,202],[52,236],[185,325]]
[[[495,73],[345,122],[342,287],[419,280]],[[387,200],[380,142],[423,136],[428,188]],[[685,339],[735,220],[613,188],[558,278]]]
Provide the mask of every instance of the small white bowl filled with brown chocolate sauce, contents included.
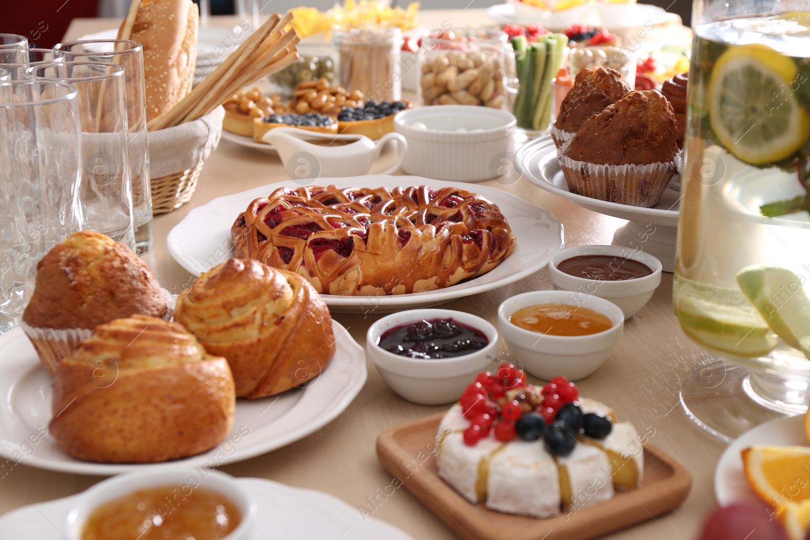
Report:
[[625,321],[641,311],[661,284],[661,261],[620,245],[578,245],[548,261],[554,288],[610,300]]

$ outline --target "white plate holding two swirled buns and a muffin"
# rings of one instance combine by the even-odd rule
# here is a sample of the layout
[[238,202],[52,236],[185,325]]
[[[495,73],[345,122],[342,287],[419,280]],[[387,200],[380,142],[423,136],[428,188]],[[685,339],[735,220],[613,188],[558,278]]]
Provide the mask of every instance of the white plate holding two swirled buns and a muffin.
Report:
[[52,381],[23,330],[11,330],[0,336],[0,456],[40,469],[110,475],[178,464],[220,466],[281,448],[337,418],[365,384],[365,351],[342,325],[332,321],[332,328],[335,357],[316,379],[278,396],[238,399],[232,430],[219,446],[197,456],[148,465],[80,461],[62,452],[50,436],[37,437],[45,433],[52,417]]

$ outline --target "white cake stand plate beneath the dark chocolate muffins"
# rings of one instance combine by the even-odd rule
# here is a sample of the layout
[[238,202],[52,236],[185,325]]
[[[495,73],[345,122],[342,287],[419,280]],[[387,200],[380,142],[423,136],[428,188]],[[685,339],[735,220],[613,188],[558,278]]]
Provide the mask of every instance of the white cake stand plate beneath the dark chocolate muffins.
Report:
[[[549,193],[568,199],[577,206],[594,210],[600,214],[612,215],[614,218],[669,227],[678,225],[680,192],[675,189],[664,189],[658,206],[655,208],[600,201],[578,193],[571,193],[560,169],[560,162],[556,157],[556,146],[551,135],[544,135],[524,145],[515,155],[514,162],[515,167],[527,181]],[[670,184],[678,181],[680,181],[680,175],[676,173]]]

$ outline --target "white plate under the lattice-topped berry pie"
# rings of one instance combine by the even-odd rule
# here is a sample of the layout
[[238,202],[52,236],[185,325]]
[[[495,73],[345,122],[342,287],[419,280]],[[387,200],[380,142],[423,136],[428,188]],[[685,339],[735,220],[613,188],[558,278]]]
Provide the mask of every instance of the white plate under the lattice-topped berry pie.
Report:
[[[254,198],[267,197],[274,189],[306,185],[336,185],[339,188],[366,188],[383,186],[430,185],[439,189],[461,186],[459,182],[431,180],[421,176],[385,176],[371,174],[345,178],[318,178],[300,181],[283,181],[243,193],[215,198],[203,206],[191,210],[169,233],[166,243],[168,253],[191,274],[199,275],[232,256],[231,226],[237,216],[244,212]],[[465,188],[466,189],[466,188]],[[497,204],[509,221],[517,238],[514,252],[494,270],[478,278],[445,287],[437,291],[416,292],[392,296],[335,296],[322,295],[323,300],[335,313],[394,313],[403,309],[422,308],[455,300],[463,296],[491,291],[523,279],[542,270],[548,259],[563,245],[562,223],[547,210],[500,189],[476,185],[471,189]],[[201,234],[201,231],[205,231]]]

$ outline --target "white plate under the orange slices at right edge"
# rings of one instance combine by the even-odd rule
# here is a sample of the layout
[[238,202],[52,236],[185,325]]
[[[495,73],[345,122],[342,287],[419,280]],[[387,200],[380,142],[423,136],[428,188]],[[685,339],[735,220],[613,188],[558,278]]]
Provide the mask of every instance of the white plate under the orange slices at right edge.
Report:
[[[744,503],[769,508],[748,486],[740,450],[753,444],[808,446],[804,415],[782,417],[760,424],[731,442],[714,468],[714,496],[720,506]],[[769,510],[772,512],[772,510]]]

